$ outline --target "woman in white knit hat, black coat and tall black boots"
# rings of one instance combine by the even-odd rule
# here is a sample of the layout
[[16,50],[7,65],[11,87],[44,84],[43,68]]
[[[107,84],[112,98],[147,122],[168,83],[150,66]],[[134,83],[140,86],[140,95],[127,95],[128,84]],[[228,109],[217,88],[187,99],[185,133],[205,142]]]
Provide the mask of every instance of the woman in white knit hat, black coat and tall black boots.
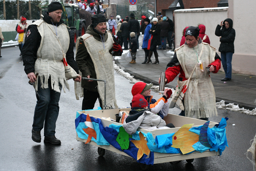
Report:
[[151,56],[153,55],[153,52],[154,52],[155,62],[152,64],[156,64],[156,63],[159,64],[156,46],[161,45],[161,38],[160,38],[161,26],[160,26],[160,24],[157,23],[158,22],[157,18],[153,18],[152,22],[153,22],[153,26],[149,30],[149,34],[152,34],[153,38],[151,40],[149,54],[148,54],[148,61],[146,63],[151,62]]

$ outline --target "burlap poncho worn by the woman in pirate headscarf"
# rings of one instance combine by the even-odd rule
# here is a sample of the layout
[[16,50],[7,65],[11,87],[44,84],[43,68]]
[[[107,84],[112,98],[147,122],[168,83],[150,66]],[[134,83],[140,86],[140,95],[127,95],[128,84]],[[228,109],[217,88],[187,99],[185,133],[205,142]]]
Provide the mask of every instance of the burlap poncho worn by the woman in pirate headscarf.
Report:
[[[195,51],[197,51],[197,46],[194,48]],[[198,45],[198,55],[201,49],[202,43]],[[197,63],[196,53],[193,48],[185,44],[175,51],[186,78],[188,79]],[[189,81],[188,90],[184,96],[185,116],[187,117],[199,119],[217,116],[214,87],[209,77],[209,72],[206,72],[205,69],[205,67],[214,62],[215,53],[215,47],[204,43],[204,49],[200,59],[204,67],[204,72],[200,71],[199,66],[196,67]]]

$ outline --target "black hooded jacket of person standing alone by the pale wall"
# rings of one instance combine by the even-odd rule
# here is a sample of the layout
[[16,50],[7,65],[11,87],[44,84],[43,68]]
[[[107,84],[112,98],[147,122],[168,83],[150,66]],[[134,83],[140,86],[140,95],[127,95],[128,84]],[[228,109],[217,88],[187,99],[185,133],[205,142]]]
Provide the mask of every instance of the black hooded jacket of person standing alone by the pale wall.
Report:
[[225,23],[227,21],[229,23],[229,28],[226,29],[225,25],[221,26],[218,24],[215,30],[215,35],[221,36],[220,38],[220,47],[219,52],[232,52],[234,53],[234,41],[236,36],[236,31],[233,29],[233,21],[230,18],[227,18],[223,21]]

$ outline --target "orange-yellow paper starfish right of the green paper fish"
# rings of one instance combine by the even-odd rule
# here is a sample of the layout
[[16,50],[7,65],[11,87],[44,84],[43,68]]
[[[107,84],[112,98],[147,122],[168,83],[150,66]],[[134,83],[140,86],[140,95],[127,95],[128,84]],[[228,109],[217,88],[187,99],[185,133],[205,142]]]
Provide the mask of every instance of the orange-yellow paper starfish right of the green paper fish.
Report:
[[150,153],[150,150],[148,149],[147,141],[145,140],[145,137],[141,132],[139,132],[139,138],[140,140],[131,140],[133,144],[139,148],[138,153],[137,153],[137,160],[139,160],[143,154],[145,153],[148,155]]

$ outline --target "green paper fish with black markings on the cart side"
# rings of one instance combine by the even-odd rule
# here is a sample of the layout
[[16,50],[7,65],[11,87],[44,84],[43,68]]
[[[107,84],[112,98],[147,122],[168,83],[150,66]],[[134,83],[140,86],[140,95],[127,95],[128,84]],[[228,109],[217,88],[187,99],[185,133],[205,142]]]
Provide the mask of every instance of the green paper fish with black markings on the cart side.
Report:
[[118,142],[122,150],[127,150],[129,148],[129,138],[132,138],[132,135],[126,133],[124,128],[120,127],[116,141]]

